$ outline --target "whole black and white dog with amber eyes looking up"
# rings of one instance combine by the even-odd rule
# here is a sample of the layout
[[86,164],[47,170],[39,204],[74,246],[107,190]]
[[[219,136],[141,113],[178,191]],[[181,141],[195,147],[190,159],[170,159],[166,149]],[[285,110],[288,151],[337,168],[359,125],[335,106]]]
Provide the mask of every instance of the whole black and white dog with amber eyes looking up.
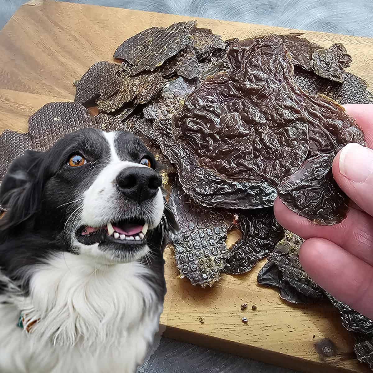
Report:
[[[133,373],[159,327],[178,224],[129,132],[82,129],[10,165],[0,204],[0,372]],[[21,327],[19,327],[21,326]]]

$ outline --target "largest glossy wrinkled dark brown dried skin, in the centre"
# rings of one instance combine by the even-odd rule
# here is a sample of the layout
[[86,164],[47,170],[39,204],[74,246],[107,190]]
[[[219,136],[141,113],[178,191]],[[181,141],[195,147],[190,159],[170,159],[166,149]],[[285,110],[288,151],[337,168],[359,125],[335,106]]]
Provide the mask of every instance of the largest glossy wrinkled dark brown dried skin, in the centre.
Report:
[[[186,153],[188,149],[189,155],[181,157],[183,163],[190,154],[194,157],[188,176],[182,169],[188,168],[178,165],[180,181],[184,190],[204,206],[240,207],[232,197],[241,195],[241,208],[267,207],[273,203],[268,200],[274,196],[271,188],[284,174],[295,171],[308,152],[307,123],[303,113],[295,109],[299,90],[292,79],[289,55],[273,35],[236,43],[229,49],[228,58],[232,73],[207,78],[173,118],[173,137],[180,144],[175,151],[182,148]],[[272,66],[276,66],[274,71]],[[288,85],[276,80],[280,75]],[[267,92],[266,87],[270,87]],[[303,92],[299,95],[304,96]],[[278,102],[275,106],[274,97]],[[281,103],[285,101],[295,110],[283,110]],[[269,117],[275,119],[268,123]],[[191,168],[195,172],[193,180],[189,179]],[[250,194],[242,190],[247,186],[260,194],[242,201],[245,193]],[[233,188],[241,190],[235,192]],[[219,195],[213,196],[219,189]]]

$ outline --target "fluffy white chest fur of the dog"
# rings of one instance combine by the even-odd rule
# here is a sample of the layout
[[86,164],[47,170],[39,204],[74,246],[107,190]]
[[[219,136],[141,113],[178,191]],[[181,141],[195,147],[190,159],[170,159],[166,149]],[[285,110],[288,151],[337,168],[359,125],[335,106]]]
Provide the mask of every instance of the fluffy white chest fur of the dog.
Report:
[[[65,253],[32,271],[30,296],[0,305],[0,372],[135,371],[163,307],[142,277],[152,276],[147,267]],[[38,320],[29,334],[16,327],[19,310]]]

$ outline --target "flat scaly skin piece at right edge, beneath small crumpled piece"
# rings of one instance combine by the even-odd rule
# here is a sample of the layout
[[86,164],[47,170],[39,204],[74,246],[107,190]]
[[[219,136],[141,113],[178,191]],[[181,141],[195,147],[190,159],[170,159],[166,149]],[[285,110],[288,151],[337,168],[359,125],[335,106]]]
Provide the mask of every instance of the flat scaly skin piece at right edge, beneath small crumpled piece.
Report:
[[366,82],[351,73],[346,73],[345,81],[340,84],[313,72],[295,68],[294,80],[308,94],[325,94],[341,105],[373,103],[373,94],[367,90]]

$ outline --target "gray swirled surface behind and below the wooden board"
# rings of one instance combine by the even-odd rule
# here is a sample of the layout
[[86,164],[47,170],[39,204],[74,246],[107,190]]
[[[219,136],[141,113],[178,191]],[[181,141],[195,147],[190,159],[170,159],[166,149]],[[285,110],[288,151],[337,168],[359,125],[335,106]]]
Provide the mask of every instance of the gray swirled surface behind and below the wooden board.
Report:
[[[75,0],[152,12],[373,37],[373,0]],[[0,0],[0,28],[23,4]],[[162,338],[140,373],[295,373]]]

